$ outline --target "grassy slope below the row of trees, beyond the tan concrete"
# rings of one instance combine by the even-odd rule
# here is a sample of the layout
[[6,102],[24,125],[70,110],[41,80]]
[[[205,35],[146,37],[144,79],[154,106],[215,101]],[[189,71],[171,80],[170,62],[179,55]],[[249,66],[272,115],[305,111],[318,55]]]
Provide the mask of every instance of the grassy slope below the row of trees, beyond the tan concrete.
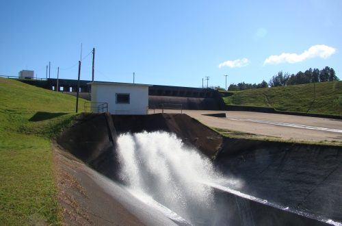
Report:
[[224,102],[280,111],[341,115],[342,81],[244,90],[224,97]]

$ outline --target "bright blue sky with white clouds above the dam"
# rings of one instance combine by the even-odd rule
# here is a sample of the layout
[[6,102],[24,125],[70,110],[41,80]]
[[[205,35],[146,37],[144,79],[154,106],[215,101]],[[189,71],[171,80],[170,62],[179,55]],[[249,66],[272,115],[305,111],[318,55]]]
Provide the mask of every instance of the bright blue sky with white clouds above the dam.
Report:
[[[0,75],[170,86],[260,83],[330,66],[342,79],[342,1],[0,1]],[[206,85],[206,81],[205,81]],[[227,86],[228,86],[227,85]]]

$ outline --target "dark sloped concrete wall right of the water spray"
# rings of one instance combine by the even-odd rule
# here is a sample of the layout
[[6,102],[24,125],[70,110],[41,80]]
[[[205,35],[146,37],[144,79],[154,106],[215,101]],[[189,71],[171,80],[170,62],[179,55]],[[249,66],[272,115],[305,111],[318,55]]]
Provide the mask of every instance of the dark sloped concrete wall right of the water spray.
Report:
[[[244,181],[240,192],[311,218],[342,222],[342,147],[233,138],[224,142],[215,164],[225,175]],[[263,208],[251,217],[262,222],[267,214],[279,225],[279,217],[272,215],[278,213]]]

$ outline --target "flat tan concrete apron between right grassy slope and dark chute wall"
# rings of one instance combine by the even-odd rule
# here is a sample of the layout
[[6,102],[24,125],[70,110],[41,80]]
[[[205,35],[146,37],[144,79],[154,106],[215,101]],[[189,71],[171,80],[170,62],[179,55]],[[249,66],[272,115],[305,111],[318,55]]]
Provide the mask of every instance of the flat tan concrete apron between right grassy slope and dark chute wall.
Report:
[[[155,113],[161,112],[156,110]],[[180,113],[181,110],[165,110]],[[151,113],[151,112],[150,112]],[[183,110],[209,127],[293,140],[342,142],[342,120],[259,112]],[[226,113],[226,118],[203,114]]]

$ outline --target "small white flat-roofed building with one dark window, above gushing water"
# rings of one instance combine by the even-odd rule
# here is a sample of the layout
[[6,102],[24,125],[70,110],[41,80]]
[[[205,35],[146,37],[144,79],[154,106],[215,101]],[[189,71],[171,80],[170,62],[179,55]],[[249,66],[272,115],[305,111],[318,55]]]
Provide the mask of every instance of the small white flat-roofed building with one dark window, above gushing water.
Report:
[[108,103],[110,114],[147,114],[148,86],[145,84],[126,84],[94,81],[92,86],[92,111],[98,103]]

